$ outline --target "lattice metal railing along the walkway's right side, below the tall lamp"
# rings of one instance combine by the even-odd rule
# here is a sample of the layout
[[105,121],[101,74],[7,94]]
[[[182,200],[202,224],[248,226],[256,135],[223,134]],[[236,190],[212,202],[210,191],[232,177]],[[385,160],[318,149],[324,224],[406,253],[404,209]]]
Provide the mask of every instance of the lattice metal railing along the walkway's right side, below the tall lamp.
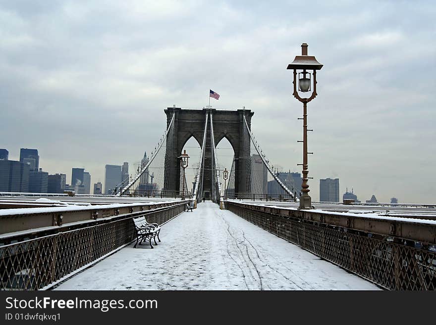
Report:
[[[327,261],[391,290],[435,290],[436,253],[378,239],[368,232],[285,218],[227,202],[227,209],[243,219],[290,241]],[[405,241],[406,242],[406,241]]]

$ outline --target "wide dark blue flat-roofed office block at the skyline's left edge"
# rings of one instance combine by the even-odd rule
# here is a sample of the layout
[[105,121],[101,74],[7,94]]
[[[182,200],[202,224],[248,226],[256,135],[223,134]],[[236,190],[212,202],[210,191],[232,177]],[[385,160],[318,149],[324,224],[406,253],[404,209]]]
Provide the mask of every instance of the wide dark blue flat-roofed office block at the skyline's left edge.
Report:
[[14,160],[0,160],[0,191],[28,192],[29,165]]

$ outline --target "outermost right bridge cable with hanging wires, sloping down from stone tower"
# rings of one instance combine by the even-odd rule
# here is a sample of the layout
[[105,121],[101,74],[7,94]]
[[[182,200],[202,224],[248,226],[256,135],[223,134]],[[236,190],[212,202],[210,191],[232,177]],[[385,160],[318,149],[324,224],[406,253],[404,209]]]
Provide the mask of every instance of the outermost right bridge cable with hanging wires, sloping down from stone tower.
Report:
[[[245,124],[245,130],[250,137],[251,144],[254,146],[255,152],[257,152],[257,155],[261,159],[261,163],[263,164],[264,168],[261,170],[258,170],[258,167],[254,166],[255,160],[257,158],[253,157],[250,154],[250,143],[248,146],[248,152],[244,154],[244,158],[246,159],[247,164],[247,172],[249,173],[249,184],[247,184],[247,188],[251,191],[250,194],[252,194],[252,198],[255,199],[255,194],[261,193],[265,194],[267,196],[271,194],[278,195],[279,197],[285,198],[286,196],[293,199],[294,201],[299,201],[296,192],[292,192],[287,186],[285,186],[280,180],[280,178],[277,176],[277,173],[274,173],[272,166],[269,164],[269,160],[266,158],[265,154],[263,153],[259,142],[254,139],[254,135],[251,132],[250,128],[248,127],[248,122],[245,117],[245,114],[243,114],[244,118],[244,124]],[[244,151],[245,148],[244,148]],[[257,162],[257,161],[256,161]],[[233,167],[232,167],[233,168]],[[265,170],[266,169],[266,170]],[[267,181],[268,177],[272,177],[271,181]],[[267,184],[265,184],[267,183]],[[229,182],[230,184],[230,182]]]

